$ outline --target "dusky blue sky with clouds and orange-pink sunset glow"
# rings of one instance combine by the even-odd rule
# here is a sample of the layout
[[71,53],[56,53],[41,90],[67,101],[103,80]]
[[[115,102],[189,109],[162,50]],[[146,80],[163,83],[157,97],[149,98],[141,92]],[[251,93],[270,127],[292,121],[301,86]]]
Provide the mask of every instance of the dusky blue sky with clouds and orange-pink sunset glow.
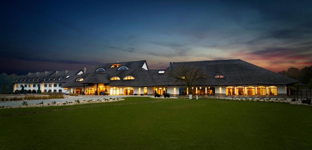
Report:
[[279,72],[312,66],[312,1],[6,1],[0,72],[117,60],[242,59]]

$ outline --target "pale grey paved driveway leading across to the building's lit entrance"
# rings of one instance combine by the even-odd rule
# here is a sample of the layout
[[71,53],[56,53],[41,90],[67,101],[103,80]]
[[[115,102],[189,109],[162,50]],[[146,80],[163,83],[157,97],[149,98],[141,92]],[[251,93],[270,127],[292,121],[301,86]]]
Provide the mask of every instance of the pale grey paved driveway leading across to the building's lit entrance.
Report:
[[[134,95],[130,95],[131,97],[133,97]],[[97,99],[103,99],[103,98],[122,98],[122,97],[128,97],[128,95],[119,95],[119,96],[112,96],[112,95],[101,95],[101,96],[97,96],[97,95],[79,95],[78,97],[80,98],[72,98],[72,99],[46,99],[46,100],[26,100],[27,104],[38,104],[40,102],[43,103],[51,103],[53,101],[56,102],[65,102],[65,101],[74,101],[74,100],[79,100],[79,101],[83,101],[83,100],[97,100]],[[138,96],[138,97],[143,97],[143,96]],[[150,96],[144,96],[144,97],[150,97]],[[0,106],[16,106],[16,105],[22,105],[23,101],[2,101],[0,102]]]

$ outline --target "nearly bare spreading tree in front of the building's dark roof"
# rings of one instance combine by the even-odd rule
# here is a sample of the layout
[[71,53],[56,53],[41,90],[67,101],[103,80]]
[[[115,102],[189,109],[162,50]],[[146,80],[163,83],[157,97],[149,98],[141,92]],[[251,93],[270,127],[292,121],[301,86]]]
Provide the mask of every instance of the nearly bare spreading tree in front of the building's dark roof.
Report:
[[175,78],[177,81],[185,82],[185,86],[188,88],[188,94],[192,93],[192,87],[197,80],[206,78],[201,68],[190,64],[176,64],[171,68],[168,76]]

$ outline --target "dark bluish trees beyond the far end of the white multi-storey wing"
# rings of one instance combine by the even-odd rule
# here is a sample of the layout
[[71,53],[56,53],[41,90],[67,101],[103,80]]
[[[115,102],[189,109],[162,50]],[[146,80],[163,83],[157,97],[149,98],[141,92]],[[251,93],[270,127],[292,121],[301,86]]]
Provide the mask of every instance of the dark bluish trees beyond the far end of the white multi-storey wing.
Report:
[[0,74],[0,92],[12,92],[13,84],[11,82],[16,81],[16,79],[22,76],[18,76],[16,74],[7,75],[6,73]]

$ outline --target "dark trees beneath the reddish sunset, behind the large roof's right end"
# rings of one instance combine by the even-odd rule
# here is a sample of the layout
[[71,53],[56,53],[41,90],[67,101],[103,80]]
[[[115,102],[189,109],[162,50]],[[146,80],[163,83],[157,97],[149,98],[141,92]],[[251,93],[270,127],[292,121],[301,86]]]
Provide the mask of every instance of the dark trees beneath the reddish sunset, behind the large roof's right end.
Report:
[[312,66],[305,67],[301,71],[298,68],[288,68],[287,71],[284,70],[278,73],[296,79],[301,83],[308,84],[310,79],[312,79]]

